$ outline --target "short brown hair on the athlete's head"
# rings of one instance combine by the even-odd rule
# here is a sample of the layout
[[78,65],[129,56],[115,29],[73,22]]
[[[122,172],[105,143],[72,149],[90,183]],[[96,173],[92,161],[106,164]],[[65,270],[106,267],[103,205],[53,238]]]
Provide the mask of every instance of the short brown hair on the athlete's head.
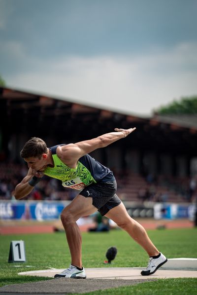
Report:
[[22,158],[30,157],[41,158],[43,153],[47,153],[48,149],[46,143],[38,137],[32,137],[23,147],[20,152]]

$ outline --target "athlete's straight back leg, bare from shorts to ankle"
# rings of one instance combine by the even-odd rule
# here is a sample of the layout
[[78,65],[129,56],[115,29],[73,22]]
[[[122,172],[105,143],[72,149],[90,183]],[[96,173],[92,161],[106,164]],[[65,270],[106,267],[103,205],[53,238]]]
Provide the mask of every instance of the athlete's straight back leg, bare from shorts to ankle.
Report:
[[144,248],[149,256],[156,256],[160,253],[148,237],[143,226],[130,217],[123,203],[112,208],[105,216],[112,219],[120,228],[125,230]]

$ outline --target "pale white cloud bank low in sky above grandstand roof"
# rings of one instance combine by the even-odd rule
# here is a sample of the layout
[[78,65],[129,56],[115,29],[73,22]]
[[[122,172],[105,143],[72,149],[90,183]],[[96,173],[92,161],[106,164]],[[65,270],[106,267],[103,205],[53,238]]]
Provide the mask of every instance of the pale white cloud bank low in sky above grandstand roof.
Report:
[[[150,115],[174,98],[197,94],[197,43],[146,56],[61,56],[31,59],[14,45],[21,70],[4,76],[11,87],[73,99],[120,112]],[[23,70],[24,68],[24,70]]]

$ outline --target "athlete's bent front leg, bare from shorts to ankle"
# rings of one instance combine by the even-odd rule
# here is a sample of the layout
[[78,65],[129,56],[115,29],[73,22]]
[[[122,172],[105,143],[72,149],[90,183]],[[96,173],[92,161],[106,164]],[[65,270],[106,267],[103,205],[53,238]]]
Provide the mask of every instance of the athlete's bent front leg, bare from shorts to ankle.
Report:
[[91,215],[97,211],[97,208],[92,205],[92,202],[92,198],[85,198],[78,195],[61,213],[61,220],[65,228],[70,249],[71,264],[78,267],[82,267],[82,238],[76,221],[80,217]]

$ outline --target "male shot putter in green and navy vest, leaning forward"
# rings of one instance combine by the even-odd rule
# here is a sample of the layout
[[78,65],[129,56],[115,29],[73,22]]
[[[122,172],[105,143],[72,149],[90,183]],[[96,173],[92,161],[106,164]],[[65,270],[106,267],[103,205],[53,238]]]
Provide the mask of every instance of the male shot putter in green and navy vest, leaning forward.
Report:
[[162,266],[166,257],[155,247],[145,229],[130,217],[124,204],[116,195],[116,179],[113,172],[100,164],[89,153],[127,137],[136,128],[119,129],[97,138],[68,145],[47,148],[37,137],[31,138],[21,150],[21,157],[27,162],[29,171],[16,185],[14,196],[21,199],[29,195],[43,175],[62,181],[64,187],[79,190],[79,194],[61,213],[71,264],[55,278],[86,278],[82,265],[82,238],[76,221],[83,216],[100,212],[125,230],[149,255],[149,263],[141,275],[150,275]]

